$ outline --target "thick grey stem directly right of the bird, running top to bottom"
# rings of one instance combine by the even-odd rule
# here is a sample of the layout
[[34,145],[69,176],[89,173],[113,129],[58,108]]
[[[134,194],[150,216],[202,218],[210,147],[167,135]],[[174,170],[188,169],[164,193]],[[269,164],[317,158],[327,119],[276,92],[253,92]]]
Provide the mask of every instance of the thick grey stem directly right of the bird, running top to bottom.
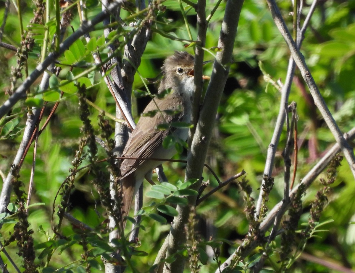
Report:
[[[232,58],[242,4],[242,0],[228,0],[226,4],[222,29],[218,41],[218,47],[222,48],[222,51],[217,53],[217,57],[214,61],[211,81],[208,85],[200,118],[198,119],[196,131],[192,138],[191,149],[187,156],[185,181],[191,178],[200,178],[202,175],[203,164],[214,125],[211,120],[215,120],[218,104],[228,78],[229,64]],[[196,183],[196,189],[198,189],[199,185],[200,183]],[[195,205],[196,197],[190,198],[189,203]],[[176,253],[181,244],[185,242],[184,226],[187,222],[190,208],[189,206],[177,206],[176,209],[178,210],[179,215],[174,217],[169,236],[166,238],[166,240],[168,240],[166,257]],[[181,256],[177,256],[173,263],[164,264],[163,272],[181,273],[183,270],[184,259]]]

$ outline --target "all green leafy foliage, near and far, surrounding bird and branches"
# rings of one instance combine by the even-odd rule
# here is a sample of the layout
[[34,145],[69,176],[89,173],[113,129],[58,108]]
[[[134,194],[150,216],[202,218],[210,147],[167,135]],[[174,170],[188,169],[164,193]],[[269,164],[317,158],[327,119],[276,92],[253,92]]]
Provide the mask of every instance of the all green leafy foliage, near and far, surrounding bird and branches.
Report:
[[[13,9],[16,12],[8,13],[2,36],[2,41],[14,46],[17,52],[3,48],[0,51],[1,105],[36,65],[54,51],[53,41],[59,39],[56,33],[60,22],[52,10],[54,5],[46,17],[42,1],[22,4],[21,8]],[[102,9],[99,1],[86,1],[81,13],[76,4],[77,1],[61,10],[62,18],[66,19],[62,27],[70,25],[64,40],[80,27],[82,14],[87,13],[90,19]],[[263,172],[290,54],[266,3],[256,0],[245,1],[242,7],[229,78],[207,155],[206,164],[217,173],[217,178],[208,169],[204,170],[202,178],[208,181],[207,190],[218,187],[219,179],[227,180],[241,169],[246,170],[247,180],[231,182],[196,208],[191,207],[184,231],[188,239],[186,245],[153,265],[170,230],[172,217],[179,214],[178,207],[189,206],[189,201],[203,195],[204,189],[198,192],[193,188],[196,180],[180,181],[184,177],[185,163],[166,163],[165,174],[169,181],[178,182],[155,184],[149,190],[145,185],[144,205],[135,215],[141,219],[131,217],[133,215],[126,217],[126,221],[141,228],[139,239],[126,240],[124,231],[119,230],[120,239],[109,243],[112,228],[108,216],[114,218],[117,229],[122,222],[117,210],[122,193],[113,140],[113,127],[120,120],[114,117],[115,100],[105,83],[107,78],[114,82],[111,72],[115,64],[111,60],[119,58],[121,65],[124,47],[153,20],[152,33],[132,79],[135,95],[132,112],[138,118],[148,94],[159,97],[171,92],[154,95],[156,87],[149,81],[146,83],[146,79],[159,74],[163,59],[174,50],[192,53],[197,46],[194,40],[196,12],[189,4],[189,1],[168,0],[144,12],[127,4],[120,13],[122,21],[113,20],[109,34],[98,24],[90,32],[91,38],[76,39],[58,56],[58,69],[46,71],[50,76],[49,87],[40,85],[38,79],[28,89],[26,100],[17,102],[0,120],[0,174],[4,181],[8,173],[15,177],[11,180],[14,194],[9,197],[8,211],[0,214],[4,245],[1,250],[5,249],[23,272],[103,272],[101,259],[111,265],[126,266],[127,272],[153,272],[179,255],[189,261],[191,272],[215,272],[233,253],[237,255],[231,266],[222,272],[251,272],[259,265],[264,265],[259,272],[335,272],[331,267],[326,268],[329,263],[319,263],[320,257],[331,260],[331,264],[342,263],[344,268],[354,264],[354,224],[349,223],[353,223],[355,217],[355,184],[349,166],[339,157],[310,188],[306,190],[302,184],[297,188],[288,214],[280,218],[282,229],[275,231],[282,235],[277,233],[268,241],[266,236],[273,232],[272,228],[261,229],[271,209],[285,200],[282,151],[288,139],[286,126],[277,147],[272,177],[264,176]],[[302,21],[310,4],[304,2]],[[279,1],[278,5],[286,25],[292,30],[291,2]],[[217,46],[225,8],[225,1],[207,3],[206,14],[214,13],[206,34],[206,59],[213,60],[217,52],[223,50]],[[5,6],[0,9],[0,18],[5,20]],[[320,3],[301,47],[308,68],[343,132],[355,125],[353,13],[353,1]],[[21,15],[24,30],[18,27],[18,15]],[[115,50],[108,44],[114,44]],[[210,75],[212,71],[211,65],[204,67],[204,74]],[[204,87],[207,85],[204,83]],[[294,180],[295,185],[299,185],[334,143],[334,138],[298,70],[291,86],[291,101],[297,103],[298,115],[298,156],[290,159],[291,171],[296,160]],[[34,144],[28,146],[21,166],[13,166],[27,118],[42,107],[42,121],[33,135],[36,152]],[[155,114],[159,113],[144,115]],[[169,126],[190,128],[191,124],[159,126],[165,130]],[[101,145],[96,136],[101,138]],[[186,143],[169,135],[163,144],[166,148],[175,145],[179,152],[175,159],[186,159]],[[263,180],[268,182],[267,191],[263,196],[262,213],[255,218],[257,194]],[[34,204],[27,205],[30,181],[34,181],[31,200]],[[114,181],[114,187],[110,188],[109,181]],[[114,199],[110,191],[115,192]],[[68,214],[80,222],[72,222]],[[130,235],[129,224],[125,234]],[[123,260],[113,255],[116,249],[122,249]],[[14,271],[8,258],[1,257],[9,271]]]

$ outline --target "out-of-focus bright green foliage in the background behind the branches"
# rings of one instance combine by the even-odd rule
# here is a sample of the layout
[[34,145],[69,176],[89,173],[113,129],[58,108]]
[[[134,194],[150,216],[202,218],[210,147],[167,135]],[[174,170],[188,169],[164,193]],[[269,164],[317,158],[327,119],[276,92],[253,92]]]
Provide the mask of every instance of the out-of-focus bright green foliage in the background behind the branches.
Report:
[[[208,12],[213,9],[215,2],[208,2]],[[310,4],[311,1],[304,2],[304,15],[307,14]],[[32,17],[33,7],[29,1],[23,1],[21,5],[23,22],[26,25]],[[142,57],[142,63],[138,68],[139,73],[135,77],[133,88],[137,90],[145,90],[142,79],[157,76],[164,58],[171,55],[174,50],[193,52],[192,47],[184,48],[186,42],[171,39],[171,37],[189,39],[179,2],[168,0],[163,5],[166,6],[166,10],[157,14],[153,23],[153,27],[157,31],[153,31],[151,34]],[[292,30],[293,6],[291,1],[279,0],[278,5],[289,29]],[[0,20],[2,21],[4,3],[1,2],[0,6]],[[186,4],[183,6],[185,7]],[[217,46],[224,8],[225,1],[222,1],[209,24],[206,39],[206,60],[214,58],[215,52],[211,48]],[[90,18],[101,10],[101,6],[97,1],[87,1],[87,9]],[[184,10],[187,12],[187,22],[191,34],[195,38],[196,13],[189,7]],[[128,15],[129,13],[126,11],[121,13],[122,18]],[[80,21],[75,8],[73,16],[71,25],[73,29],[77,29]],[[54,14],[51,14],[51,18],[53,19],[48,25],[49,28],[54,24]],[[38,35],[43,31],[40,28],[32,30],[38,31]],[[72,30],[69,28],[67,33],[72,33]],[[103,40],[100,40],[100,37],[103,36],[102,30],[95,30],[92,36],[96,37],[95,42],[97,41],[98,46],[103,45]],[[20,38],[17,13],[12,8],[7,18],[3,41],[19,47]],[[38,56],[35,53],[39,53],[41,50],[43,35],[35,37],[35,42],[37,51],[33,52],[34,54],[29,58],[30,71],[38,62]],[[68,53],[61,56],[59,61],[63,63],[93,62],[90,50],[92,46],[89,46],[83,39],[76,43],[76,46],[74,45],[70,50],[73,56]],[[81,47],[82,51],[80,51]],[[305,34],[301,52],[305,56],[306,63],[340,129],[343,132],[348,131],[355,125],[355,1],[319,1],[310,27]],[[104,46],[100,53],[102,56],[107,54]],[[288,47],[273,23],[267,4],[258,0],[246,0],[240,16],[230,75],[219,107],[219,114],[216,117],[216,128],[206,163],[214,169],[222,181],[242,169],[246,170],[246,177],[253,188],[255,198],[257,198],[262,181],[266,152],[273,133],[281,96],[272,82],[285,80],[289,55]],[[0,102],[2,103],[8,97],[6,92],[10,87],[11,67],[16,66],[15,53],[1,48],[0,60]],[[77,75],[83,70],[82,68],[74,68],[72,74]],[[211,72],[211,64],[206,65],[204,74],[210,75]],[[69,68],[62,66],[59,81],[67,79],[68,74]],[[89,86],[88,99],[100,109],[114,115],[115,102],[99,72],[91,72],[86,78],[83,81]],[[207,84],[205,83],[205,87]],[[33,85],[31,93],[38,91],[36,86]],[[148,87],[152,93],[156,92],[157,86],[148,84]],[[58,92],[54,93],[54,97],[49,95],[44,94],[44,99],[49,101],[49,105],[59,98]],[[2,177],[8,173],[21,141],[27,105],[33,106],[38,103],[41,96],[40,94],[35,95],[27,99],[26,102],[19,102],[10,113],[11,120],[1,121],[0,170]],[[132,99],[133,114],[138,120],[149,97],[133,97]],[[297,114],[299,115],[297,183],[331,147],[334,139],[297,70],[291,88],[289,102],[291,101],[297,103]],[[98,108],[91,108],[92,125],[96,130],[99,129],[98,114]],[[111,120],[111,124],[114,126],[113,120]],[[35,231],[35,245],[39,245],[38,255],[43,250],[40,244],[51,237],[50,221],[54,195],[69,174],[71,160],[78,141],[82,137],[81,126],[78,98],[70,91],[65,92],[50,125],[39,137],[38,142],[33,202],[43,202],[45,205],[29,211],[30,228]],[[270,208],[282,200],[283,196],[284,164],[281,153],[285,146],[285,137],[284,132],[275,158],[273,171],[275,187],[268,203]],[[25,189],[28,187],[32,165],[33,148],[31,149],[20,172]],[[105,157],[105,151],[99,147],[99,158],[104,159]],[[185,157],[186,151],[175,158],[184,159]],[[84,164],[86,163],[84,161]],[[102,166],[105,168],[105,164]],[[184,164],[182,163],[166,163],[164,170],[169,181],[173,184],[184,177]],[[70,213],[89,226],[98,228],[100,223],[104,221],[105,215],[102,215],[98,194],[90,184],[91,179],[91,174],[86,170],[81,171],[77,176],[75,190],[72,192],[70,200]],[[210,182],[209,188],[217,184],[208,170],[204,172],[204,180]],[[145,187],[150,188],[151,186],[145,184]],[[301,218],[304,222],[307,222],[309,216],[307,205],[310,200],[314,199],[319,187],[320,183],[317,180],[307,190],[304,198],[304,215]],[[292,267],[292,272],[339,272],[329,266],[322,265],[316,261],[316,258],[328,261],[331,265],[340,264],[355,269],[355,226],[350,224],[351,221],[355,221],[355,183],[345,160],[332,187],[332,193],[328,197],[329,203],[323,211],[322,221],[332,219],[334,222],[324,226],[327,231],[318,233],[318,237],[314,237],[308,242],[305,248],[307,255],[301,255]],[[145,204],[151,202],[151,199],[145,199]],[[241,239],[248,231],[248,222],[243,210],[242,194],[235,183],[230,183],[197,207],[201,222],[201,235],[207,238],[213,236],[213,238],[230,240],[230,244],[224,243],[222,246],[220,256],[222,261],[241,243]],[[171,219],[167,218],[169,223]],[[133,258],[133,263],[140,272],[144,272],[147,265],[152,265],[156,255],[154,250],[158,251],[169,232],[169,224],[162,225],[151,219],[144,220],[143,226],[146,227],[146,231],[141,232],[142,245],[139,249],[148,252],[149,255]],[[206,226],[210,228],[207,230]],[[66,223],[63,228],[64,234],[69,237],[73,235],[70,224]],[[12,229],[13,224],[5,224],[2,227],[2,237],[6,238]],[[11,252],[11,248],[16,249],[16,246],[10,245],[7,251]],[[82,250],[80,246],[73,245],[63,251],[61,254],[58,251],[53,255],[51,266],[61,267],[75,261],[80,258]],[[16,261],[16,256],[13,258]],[[277,261],[278,255],[274,255],[269,258],[267,266],[276,269]],[[38,258],[38,262],[41,265],[44,264],[41,256]],[[93,272],[102,272],[100,268],[102,268],[102,264],[97,258],[96,269],[93,268]],[[202,267],[202,272],[214,272],[216,268],[215,263],[211,261],[209,265]],[[77,270],[79,272],[79,269]]]

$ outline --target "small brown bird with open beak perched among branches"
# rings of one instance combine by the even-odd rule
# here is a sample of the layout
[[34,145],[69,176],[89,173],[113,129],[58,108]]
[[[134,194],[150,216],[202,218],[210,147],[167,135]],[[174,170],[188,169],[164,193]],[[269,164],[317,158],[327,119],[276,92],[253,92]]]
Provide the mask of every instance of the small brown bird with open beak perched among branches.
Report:
[[[171,134],[173,138],[186,141],[188,128],[174,128],[171,123],[190,123],[191,99],[194,86],[195,58],[185,51],[175,51],[174,55],[165,59],[162,66],[163,79],[158,94],[165,90],[170,93],[163,98],[154,98],[143,110],[143,115],[131,132],[122,152],[120,164],[122,188],[122,216],[128,216],[133,196],[137,193],[146,175],[163,161],[147,160],[171,159],[176,154],[175,145],[165,149],[163,140]],[[203,79],[209,79],[203,76]],[[144,113],[154,113],[144,115]],[[165,124],[164,129],[157,128]]]

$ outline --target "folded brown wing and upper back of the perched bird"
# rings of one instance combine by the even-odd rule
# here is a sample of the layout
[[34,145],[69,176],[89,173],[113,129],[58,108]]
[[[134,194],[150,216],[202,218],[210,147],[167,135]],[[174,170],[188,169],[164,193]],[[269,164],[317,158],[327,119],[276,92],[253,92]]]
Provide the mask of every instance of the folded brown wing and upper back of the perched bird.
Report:
[[[169,99],[169,106],[164,106],[164,100]],[[129,140],[125,146],[122,156],[123,159],[120,165],[121,176],[125,177],[135,171],[144,163],[144,159],[129,159],[129,158],[150,158],[160,147],[164,138],[171,132],[171,129],[158,130],[157,124],[171,124],[175,121],[181,121],[184,114],[184,98],[179,94],[170,94],[163,99],[155,99],[151,101],[143,113],[157,110],[157,106],[162,113],[157,112],[154,116],[141,116],[136,128],[132,131]],[[179,110],[175,114],[167,114],[165,110]]]

